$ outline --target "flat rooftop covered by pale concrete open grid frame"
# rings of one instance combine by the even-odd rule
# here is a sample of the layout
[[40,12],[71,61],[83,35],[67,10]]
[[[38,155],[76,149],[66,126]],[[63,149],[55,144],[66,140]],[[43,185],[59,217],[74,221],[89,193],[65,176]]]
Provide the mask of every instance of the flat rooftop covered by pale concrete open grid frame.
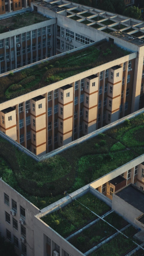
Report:
[[37,1],[34,5],[44,6],[50,11],[57,12],[58,14],[67,16],[76,22],[83,23],[85,26],[90,26],[116,37],[118,37],[120,33],[128,33],[128,35],[124,35],[120,38],[139,46],[144,44],[144,21],[142,20],[133,19],[69,1]]

